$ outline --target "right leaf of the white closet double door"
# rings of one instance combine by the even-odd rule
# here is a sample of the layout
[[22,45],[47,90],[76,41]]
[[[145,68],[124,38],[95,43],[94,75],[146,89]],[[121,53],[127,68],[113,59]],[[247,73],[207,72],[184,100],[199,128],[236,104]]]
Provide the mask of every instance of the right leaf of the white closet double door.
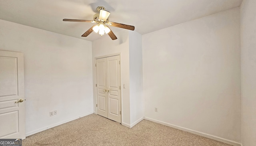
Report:
[[121,123],[119,55],[107,57],[108,118]]

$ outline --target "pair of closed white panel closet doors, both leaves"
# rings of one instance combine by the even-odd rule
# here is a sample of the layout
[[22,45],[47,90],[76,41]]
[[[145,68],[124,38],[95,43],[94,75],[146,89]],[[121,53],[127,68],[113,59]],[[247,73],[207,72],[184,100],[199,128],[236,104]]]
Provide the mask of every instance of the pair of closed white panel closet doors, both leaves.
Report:
[[97,113],[121,123],[120,57],[96,59]]

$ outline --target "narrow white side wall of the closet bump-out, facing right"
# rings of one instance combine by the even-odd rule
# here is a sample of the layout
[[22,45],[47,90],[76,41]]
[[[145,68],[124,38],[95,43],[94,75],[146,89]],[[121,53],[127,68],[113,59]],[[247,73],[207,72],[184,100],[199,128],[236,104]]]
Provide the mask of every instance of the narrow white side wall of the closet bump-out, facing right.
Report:
[[130,123],[134,126],[144,116],[142,99],[142,35],[129,31]]

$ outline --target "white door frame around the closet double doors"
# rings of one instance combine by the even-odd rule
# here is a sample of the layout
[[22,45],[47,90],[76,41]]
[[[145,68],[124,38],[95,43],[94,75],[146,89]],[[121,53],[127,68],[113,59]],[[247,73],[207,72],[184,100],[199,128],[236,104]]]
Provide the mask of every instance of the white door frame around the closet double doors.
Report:
[[121,53],[114,53],[114,54],[110,54],[110,55],[103,55],[103,56],[99,56],[99,57],[94,57],[94,100],[95,100],[95,104],[93,105],[94,109],[95,110],[95,114],[98,114],[98,111],[97,111],[97,107],[96,107],[96,104],[97,103],[97,88],[96,88],[96,83],[97,83],[97,71],[96,71],[96,59],[100,59],[100,58],[106,58],[106,57],[111,57],[111,56],[118,56],[119,55],[119,59],[120,59],[120,86],[121,86],[121,89],[120,89],[120,107],[121,107],[121,123],[122,124],[122,120],[123,120],[123,109],[122,109],[122,57],[121,57]]

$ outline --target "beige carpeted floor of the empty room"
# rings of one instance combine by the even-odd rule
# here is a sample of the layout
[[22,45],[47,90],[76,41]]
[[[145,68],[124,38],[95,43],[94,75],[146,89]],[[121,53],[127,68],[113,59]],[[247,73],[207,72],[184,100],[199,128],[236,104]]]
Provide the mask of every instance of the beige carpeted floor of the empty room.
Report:
[[26,137],[22,146],[230,146],[142,120],[132,128],[96,114]]

